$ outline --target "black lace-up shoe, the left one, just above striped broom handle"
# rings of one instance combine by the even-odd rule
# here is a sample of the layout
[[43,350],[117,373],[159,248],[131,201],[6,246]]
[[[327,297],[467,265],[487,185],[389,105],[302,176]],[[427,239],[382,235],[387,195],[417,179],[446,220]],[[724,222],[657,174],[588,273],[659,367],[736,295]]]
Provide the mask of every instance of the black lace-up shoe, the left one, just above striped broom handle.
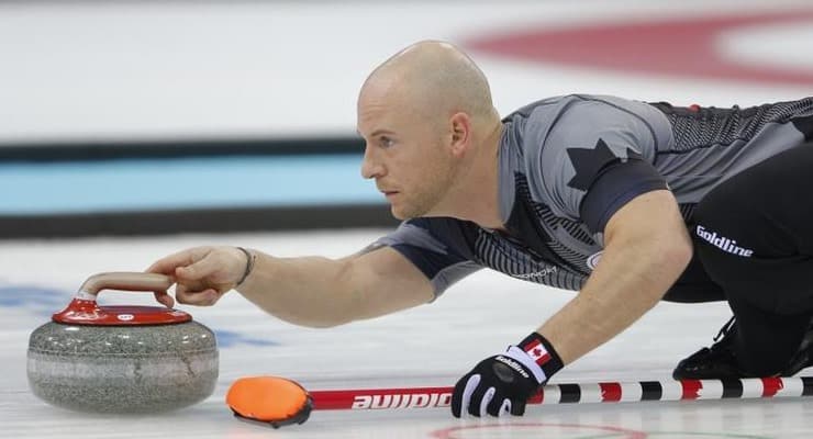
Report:
[[[672,371],[676,380],[721,380],[727,378],[746,378],[751,374],[739,369],[734,352],[736,328],[734,317],[726,323],[714,337],[711,348],[703,348],[681,360]],[[719,341],[717,341],[719,340]]]

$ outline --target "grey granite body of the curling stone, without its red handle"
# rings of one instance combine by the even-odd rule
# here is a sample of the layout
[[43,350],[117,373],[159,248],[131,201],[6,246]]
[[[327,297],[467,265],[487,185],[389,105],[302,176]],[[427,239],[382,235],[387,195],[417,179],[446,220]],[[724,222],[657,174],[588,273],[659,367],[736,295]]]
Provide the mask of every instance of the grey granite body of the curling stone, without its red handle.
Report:
[[157,413],[205,399],[218,381],[214,334],[197,322],[153,326],[47,323],[31,334],[29,385],[45,402],[93,413]]

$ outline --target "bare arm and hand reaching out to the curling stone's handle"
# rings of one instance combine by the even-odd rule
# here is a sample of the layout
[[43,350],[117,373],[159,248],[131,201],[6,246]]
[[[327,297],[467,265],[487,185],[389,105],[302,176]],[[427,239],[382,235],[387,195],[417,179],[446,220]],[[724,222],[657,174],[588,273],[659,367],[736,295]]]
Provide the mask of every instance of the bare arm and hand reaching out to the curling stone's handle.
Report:
[[[312,327],[335,326],[426,303],[433,288],[409,260],[389,247],[343,259],[277,258],[258,250],[237,291],[269,314]],[[176,299],[212,305],[234,289],[245,272],[246,255],[235,247],[197,247],[168,256],[147,271],[174,275]],[[157,299],[171,306],[171,297]]]

